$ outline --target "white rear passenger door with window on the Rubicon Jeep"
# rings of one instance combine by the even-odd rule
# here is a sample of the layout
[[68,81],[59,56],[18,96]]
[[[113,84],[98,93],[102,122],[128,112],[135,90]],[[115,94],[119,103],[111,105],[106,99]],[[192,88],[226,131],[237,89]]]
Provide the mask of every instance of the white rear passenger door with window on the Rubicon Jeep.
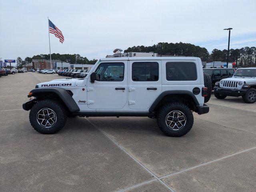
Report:
[[146,110],[162,91],[161,60],[130,60],[129,68],[129,108]]

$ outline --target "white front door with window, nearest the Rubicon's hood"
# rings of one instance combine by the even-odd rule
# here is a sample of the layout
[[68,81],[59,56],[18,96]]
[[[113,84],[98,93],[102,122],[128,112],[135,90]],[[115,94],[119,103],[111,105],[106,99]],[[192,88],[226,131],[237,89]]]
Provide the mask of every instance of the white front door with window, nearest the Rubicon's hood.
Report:
[[96,70],[97,80],[87,82],[87,105],[90,109],[122,109],[127,102],[128,61],[104,61]]

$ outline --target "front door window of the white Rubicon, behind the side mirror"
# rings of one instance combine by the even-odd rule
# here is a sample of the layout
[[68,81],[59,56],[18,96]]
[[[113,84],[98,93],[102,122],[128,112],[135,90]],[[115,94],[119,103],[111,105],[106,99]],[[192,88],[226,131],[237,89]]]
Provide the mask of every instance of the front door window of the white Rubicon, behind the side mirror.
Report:
[[95,72],[97,81],[123,81],[124,63],[101,63]]

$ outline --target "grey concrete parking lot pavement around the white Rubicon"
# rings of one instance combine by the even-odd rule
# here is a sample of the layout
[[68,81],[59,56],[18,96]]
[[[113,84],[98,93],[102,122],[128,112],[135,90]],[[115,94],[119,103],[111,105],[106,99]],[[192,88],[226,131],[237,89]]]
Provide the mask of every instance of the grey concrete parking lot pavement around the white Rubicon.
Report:
[[56,78],[63,77],[0,79],[1,192],[255,191],[255,104],[212,95],[210,112],[194,113],[181,138],[164,136],[146,117],[69,118],[59,133],[38,134],[22,102],[37,83]]

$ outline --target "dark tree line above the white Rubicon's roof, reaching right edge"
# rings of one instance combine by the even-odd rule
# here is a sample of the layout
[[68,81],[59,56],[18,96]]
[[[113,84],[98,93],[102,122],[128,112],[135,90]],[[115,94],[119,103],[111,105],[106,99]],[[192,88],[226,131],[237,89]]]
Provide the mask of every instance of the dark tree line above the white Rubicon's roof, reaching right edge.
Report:
[[[212,50],[209,54],[206,48],[195,46],[190,43],[167,43],[160,42],[153,46],[133,46],[124,52],[155,52],[164,55],[174,56],[194,56],[201,58],[202,61],[227,61],[228,50]],[[256,47],[244,47],[240,49],[230,49],[229,62],[236,62],[237,66],[251,67],[256,66]]]

